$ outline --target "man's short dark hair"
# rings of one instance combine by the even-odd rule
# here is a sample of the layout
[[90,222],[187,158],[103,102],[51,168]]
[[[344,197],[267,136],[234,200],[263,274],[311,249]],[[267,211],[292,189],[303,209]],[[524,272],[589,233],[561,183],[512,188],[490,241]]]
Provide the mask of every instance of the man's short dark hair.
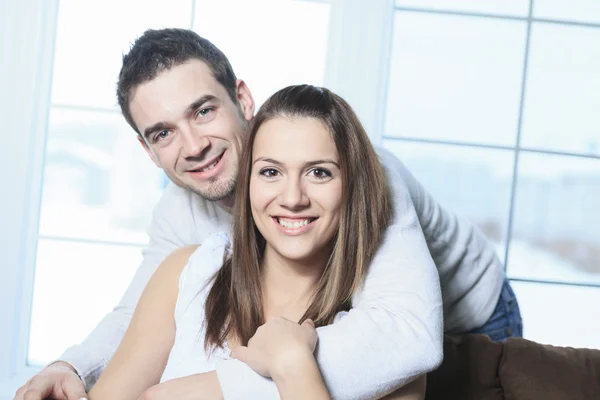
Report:
[[161,72],[190,60],[206,63],[219,82],[237,104],[236,77],[225,54],[210,41],[188,29],[149,29],[136,39],[127,54],[117,83],[117,99],[123,116],[135,126],[129,109],[131,93],[142,83],[151,81]]

